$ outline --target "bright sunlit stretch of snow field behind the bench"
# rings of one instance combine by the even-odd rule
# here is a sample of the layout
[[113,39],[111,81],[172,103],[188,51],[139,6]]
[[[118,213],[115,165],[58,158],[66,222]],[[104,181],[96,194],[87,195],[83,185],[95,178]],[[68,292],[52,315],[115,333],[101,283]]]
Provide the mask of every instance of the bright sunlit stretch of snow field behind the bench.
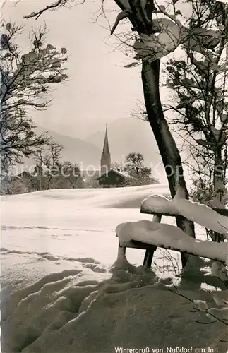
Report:
[[[140,202],[152,193],[168,195],[169,189],[166,185],[156,184],[121,189],[59,189],[3,196],[3,284],[14,286],[18,283],[23,287],[22,275],[27,285],[40,275],[52,272],[52,268],[71,268],[81,258],[112,265],[118,246],[116,225],[126,220],[151,220],[152,216],[140,214]],[[173,222],[172,219],[169,221]],[[141,264],[143,254],[143,251],[131,249],[128,250],[128,259]],[[28,263],[35,267],[29,275]]]

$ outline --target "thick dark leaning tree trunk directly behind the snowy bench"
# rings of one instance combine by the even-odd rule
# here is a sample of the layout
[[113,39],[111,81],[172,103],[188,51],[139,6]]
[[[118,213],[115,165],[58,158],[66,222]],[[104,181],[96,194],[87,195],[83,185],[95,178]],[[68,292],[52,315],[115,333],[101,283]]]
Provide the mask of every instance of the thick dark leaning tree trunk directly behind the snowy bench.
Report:
[[[157,146],[162,156],[162,161],[169,182],[169,189],[174,198],[178,188],[181,188],[183,197],[188,199],[188,190],[184,180],[181,156],[176,147],[176,143],[169,131],[169,126],[164,117],[162,104],[160,101],[159,80],[160,80],[160,60],[148,63],[143,61],[142,67],[143,92],[145,107],[148,114],[148,121],[155,135]],[[184,217],[176,217],[176,225],[186,232],[190,237],[195,238],[193,222]],[[182,265],[186,265],[187,257],[181,254]]]

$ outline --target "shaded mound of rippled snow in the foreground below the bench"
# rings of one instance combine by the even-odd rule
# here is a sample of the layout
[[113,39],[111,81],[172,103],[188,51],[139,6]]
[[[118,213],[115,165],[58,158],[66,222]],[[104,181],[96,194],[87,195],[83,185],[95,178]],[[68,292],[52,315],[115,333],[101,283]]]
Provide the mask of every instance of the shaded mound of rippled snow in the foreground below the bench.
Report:
[[[152,271],[125,262],[111,272],[98,282],[76,268],[13,294],[3,317],[3,352],[109,353],[116,347],[165,351],[177,346],[226,352],[226,343],[220,342],[226,325],[196,323],[211,318],[193,312],[192,303],[171,292]],[[200,282],[196,292],[184,289],[184,282],[182,294],[215,307],[212,296],[200,291]],[[224,311],[216,313],[224,316]]]

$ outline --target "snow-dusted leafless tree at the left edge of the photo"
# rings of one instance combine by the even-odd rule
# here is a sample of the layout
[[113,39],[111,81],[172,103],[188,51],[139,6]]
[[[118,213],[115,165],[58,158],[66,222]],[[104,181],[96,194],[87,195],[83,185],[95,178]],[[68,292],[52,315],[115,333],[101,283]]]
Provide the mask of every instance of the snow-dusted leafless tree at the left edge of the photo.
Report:
[[46,28],[40,28],[32,33],[30,52],[21,54],[16,38],[22,30],[7,23],[1,35],[0,149],[1,172],[6,174],[11,164],[21,163],[23,157],[48,143],[47,134],[36,135],[28,107],[46,109],[52,85],[66,79],[66,49],[44,46]]

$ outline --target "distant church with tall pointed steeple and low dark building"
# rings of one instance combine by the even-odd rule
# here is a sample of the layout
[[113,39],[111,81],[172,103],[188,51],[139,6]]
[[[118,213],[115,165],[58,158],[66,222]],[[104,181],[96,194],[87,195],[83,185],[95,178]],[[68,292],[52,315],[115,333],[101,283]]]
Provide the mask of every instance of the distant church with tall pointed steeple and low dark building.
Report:
[[132,178],[119,170],[111,168],[111,154],[109,151],[109,139],[107,133],[107,126],[104,136],[104,145],[102,156],[100,159],[100,177],[96,178],[99,186],[104,188],[124,186],[129,183]]

